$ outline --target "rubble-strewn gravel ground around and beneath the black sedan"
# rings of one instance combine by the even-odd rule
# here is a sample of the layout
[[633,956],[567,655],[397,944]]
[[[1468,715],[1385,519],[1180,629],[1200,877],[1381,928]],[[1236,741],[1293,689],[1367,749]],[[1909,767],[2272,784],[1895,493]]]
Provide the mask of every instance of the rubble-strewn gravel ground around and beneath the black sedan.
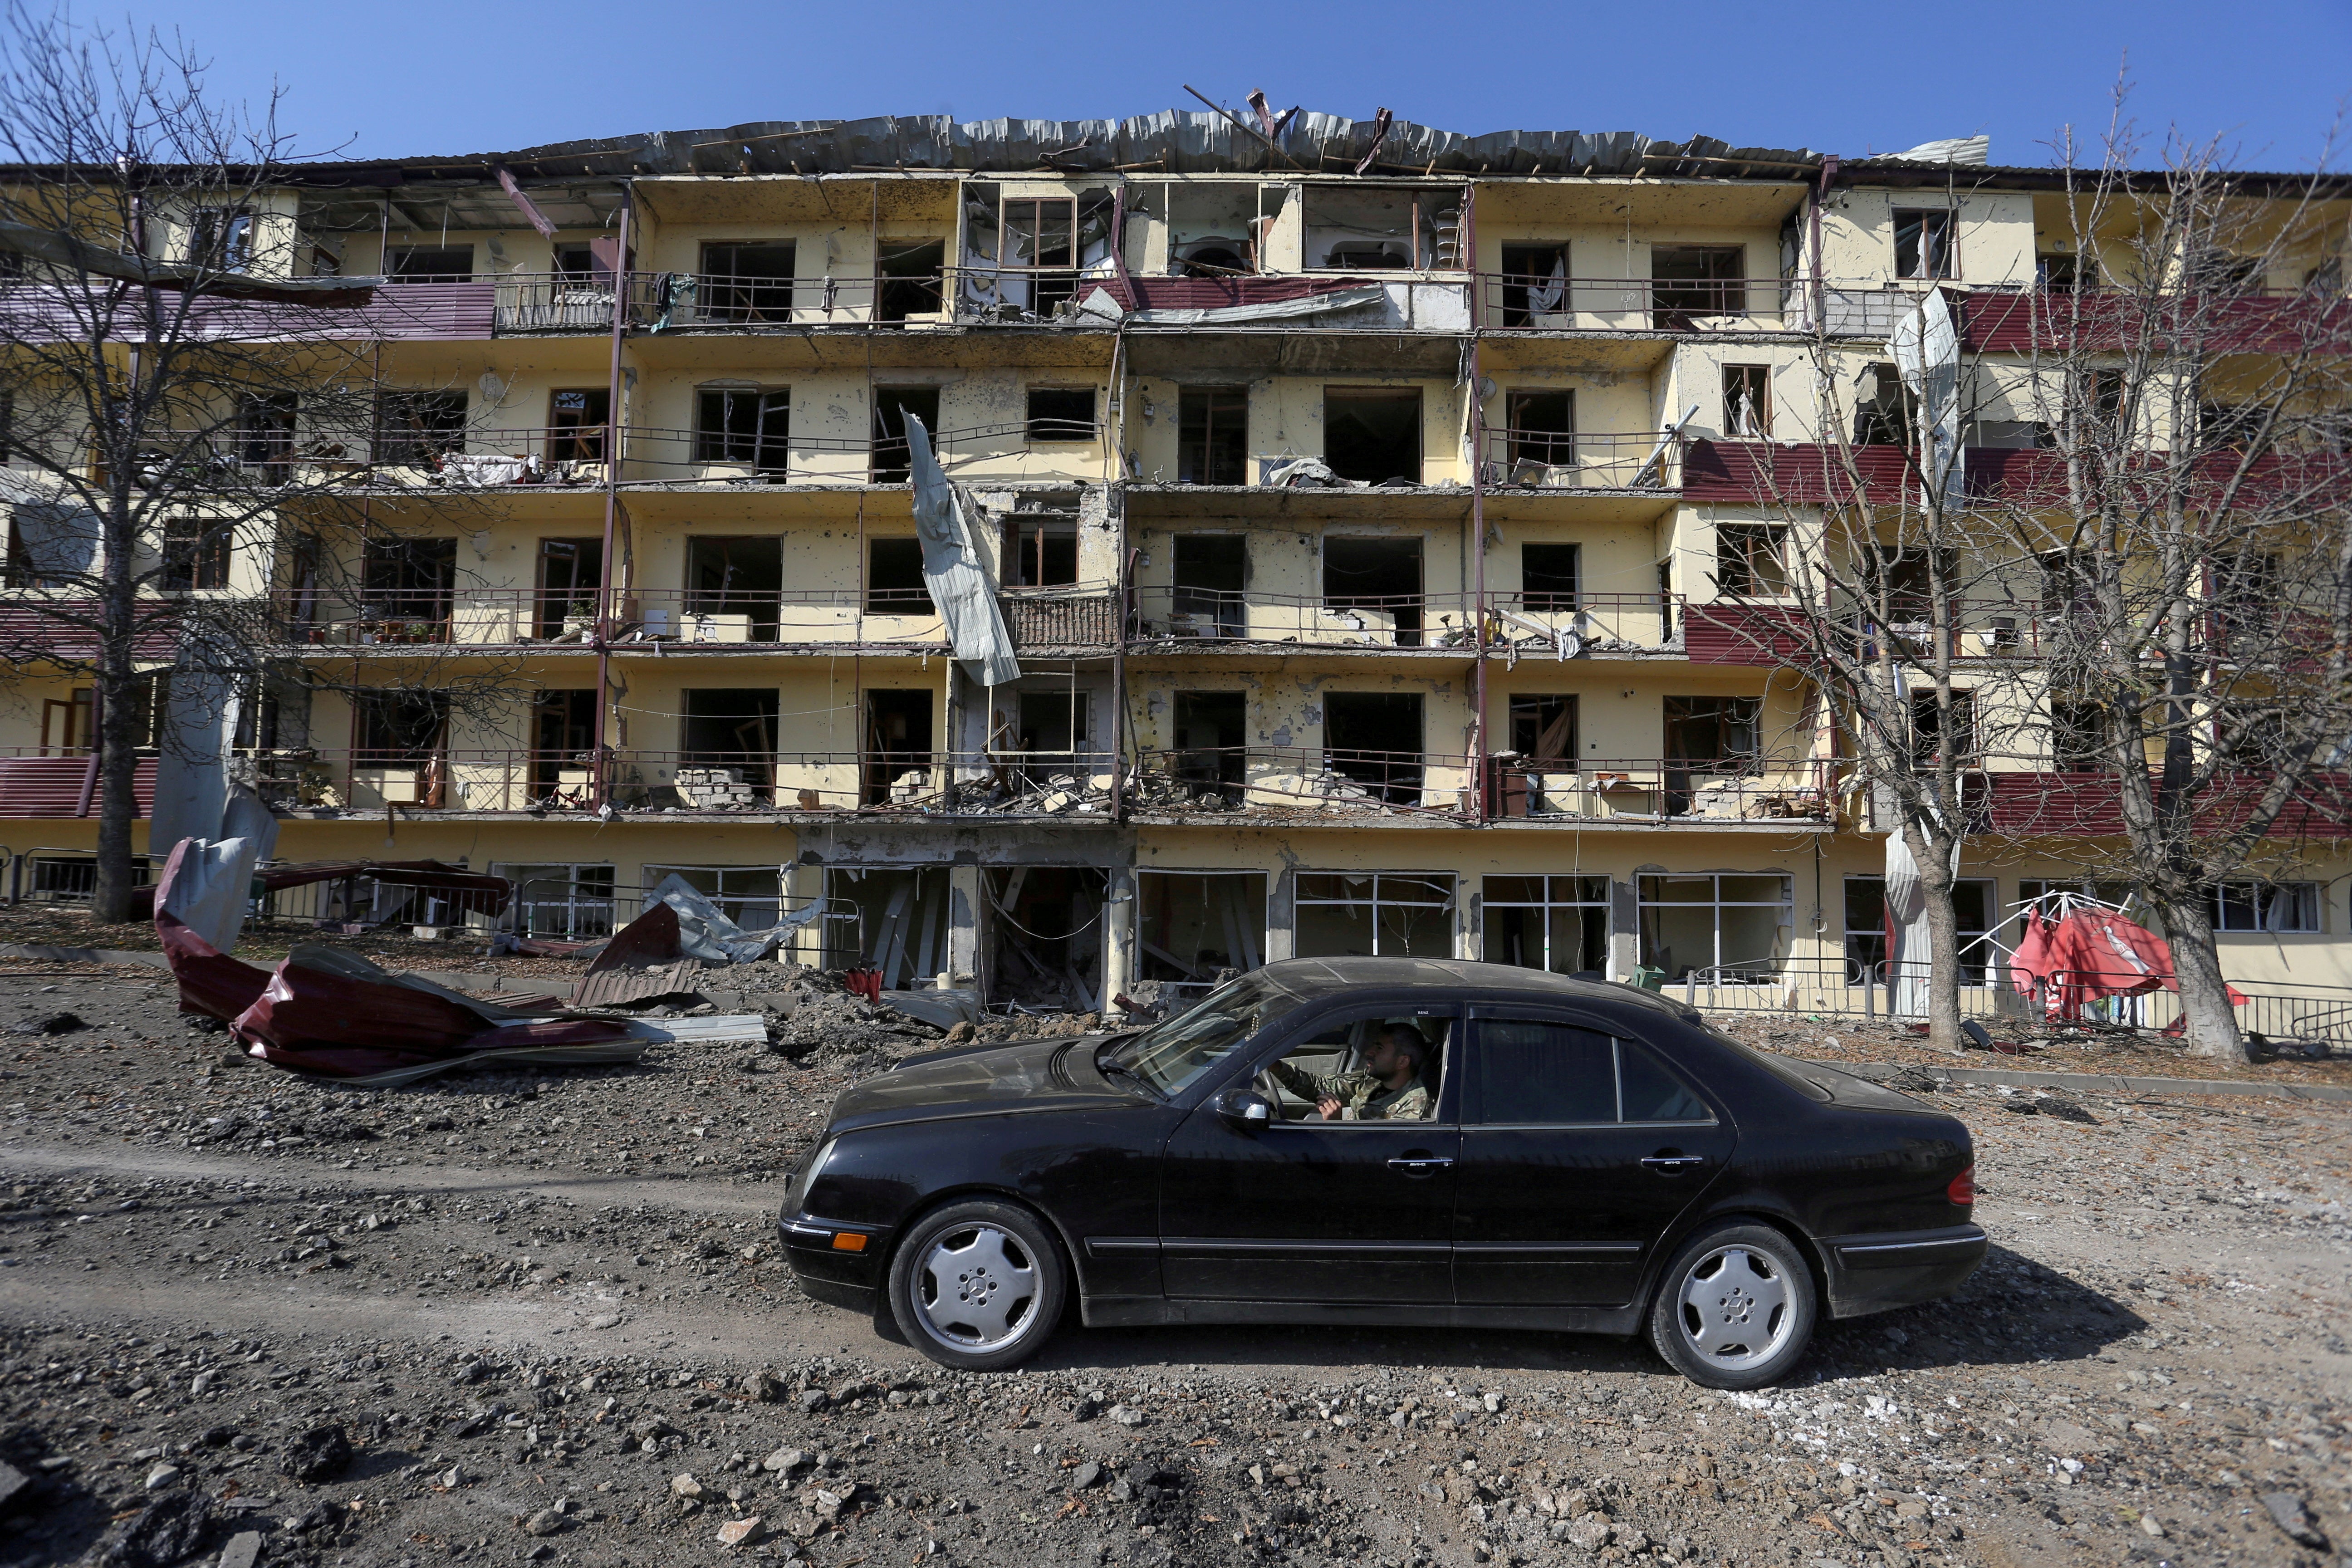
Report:
[[1931,1093],[1992,1260],[1766,1394],[1465,1331],[1070,1328],[971,1378],[802,1298],[771,1232],[833,1093],[936,1030],[783,971],[743,1004],[776,1048],[348,1091],[238,1065],[153,971],[0,976],[0,1563],[2352,1547],[2347,1107]]

